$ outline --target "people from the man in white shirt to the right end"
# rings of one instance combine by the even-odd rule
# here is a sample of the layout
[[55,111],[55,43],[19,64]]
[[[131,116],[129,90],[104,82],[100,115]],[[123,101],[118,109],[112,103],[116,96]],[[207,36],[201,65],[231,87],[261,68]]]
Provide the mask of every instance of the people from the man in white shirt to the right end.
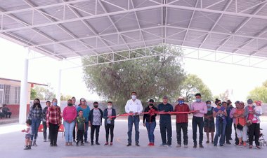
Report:
[[[159,128],[162,138],[162,144],[160,146],[167,146],[171,148],[172,127],[171,127],[171,114],[167,112],[182,112],[176,113],[176,141],[177,148],[181,147],[181,131],[183,131],[183,145],[188,148],[188,114],[193,114],[192,128],[193,128],[193,148],[197,148],[197,129],[199,132],[198,145],[200,148],[204,148],[203,142],[203,129],[207,133],[206,143],[212,143],[217,146],[223,144],[231,144],[230,140],[232,134],[232,127],[235,129],[235,145],[246,147],[247,134],[249,135],[249,148],[252,148],[253,141],[255,141],[256,148],[260,149],[259,134],[260,134],[260,119],[262,115],[261,101],[255,101],[254,106],[252,99],[247,100],[248,106],[245,107],[245,103],[242,101],[235,101],[235,108],[232,106],[232,102],[221,101],[216,99],[214,103],[216,107],[211,106],[211,101],[202,101],[200,93],[195,94],[195,102],[189,107],[185,103],[183,96],[178,97],[177,104],[173,108],[168,103],[168,97],[162,98],[163,102],[160,103],[157,108],[153,99],[148,102],[148,107],[144,112],[154,110],[157,112],[166,112],[166,114],[160,114]],[[131,146],[131,133],[133,124],[136,130],[135,142],[136,146],[139,146],[139,114],[143,111],[141,101],[136,99],[136,92],[131,93],[131,99],[127,101],[125,106],[128,116],[128,144]],[[143,115],[143,126],[148,131],[148,145],[155,145],[154,130],[156,127],[156,113],[146,113]],[[214,132],[216,134],[214,137]],[[209,139],[209,133],[211,139]],[[211,141],[209,141],[211,140]]]

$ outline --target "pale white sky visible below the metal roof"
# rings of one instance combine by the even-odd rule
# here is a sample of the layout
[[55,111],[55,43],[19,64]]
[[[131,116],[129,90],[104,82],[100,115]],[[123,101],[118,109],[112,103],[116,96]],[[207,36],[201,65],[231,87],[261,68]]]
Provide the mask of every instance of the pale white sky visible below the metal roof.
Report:
[[[23,74],[23,58],[27,54],[27,48],[0,38],[0,78],[21,80]],[[30,54],[28,81],[38,83],[50,82],[56,87],[58,81],[58,68],[77,66],[71,62],[58,62],[50,57],[40,57],[37,52]],[[79,59],[73,62],[79,63]],[[233,89],[233,100],[245,100],[249,91],[256,86],[261,86],[267,80],[264,74],[266,69],[256,69],[231,64],[206,62],[197,59],[183,59],[186,73],[196,74],[211,89],[212,94],[218,95],[226,89]],[[85,97],[89,100],[99,100],[97,94],[91,94],[86,89],[82,80],[82,67],[67,69],[62,72],[61,92],[77,97]]]

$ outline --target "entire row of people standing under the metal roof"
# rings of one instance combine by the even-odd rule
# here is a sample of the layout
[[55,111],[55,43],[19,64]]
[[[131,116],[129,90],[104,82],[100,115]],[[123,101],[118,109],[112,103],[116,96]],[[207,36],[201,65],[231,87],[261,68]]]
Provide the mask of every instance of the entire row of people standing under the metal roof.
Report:
[[[162,98],[162,103],[156,107],[153,99],[148,101],[148,106],[143,110],[142,103],[137,99],[137,93],[131,93],[131,99],[126,102],[125,111],[128,114],[128,144],[132,145],[132,129],[134,124],[135,129],[135,145],[139,145],[139,122],[140,115],[144,111],[143,126],[148,131],[148,145],[155,145],[154,130],[157,126],[156,117],[157,113],[160,113],[159,127],[162,138],[160,146],[167,146],[171,148],[172,141],[172,127],[171,127],[171,113],[178,112],[176,115],[176,141],[177,148],[181,147],[183,131],[183,145],[188,148],[188,114],[193,114],[192,128],[193,128],[193,148],[197,148],[197,144],[200,148],[204,148],[203,142],[203,129],[207,133],[206,143],[211,143],[216,146],[219,141],[219,145],[223,146],[226,142],[230,144],[232,126],[234,124],[235,129],[235,145],[246,146],[247,142],[247,129],[249,134],[249,148],[252,148],[252,143],[255,140],[256,148],[259,146],[259,116],[262,114],[261,101],[255,101],[256,106],[253,105],[251,99],[247,100],[248,106],[241,101],[235,101],[235,108],[232,106],[232,102],[221,101],[216,99],[216,107],[211,106],[211,101],[202,101],[200,93],[195,94],[195,102],[189,107],[185,103],[183,96],[178,97],[177,104],[173,107],[168,103],[168,97]],[[93,102],[93,109],[90,109],[86,105],[84,98],[80,99],[79,105],[76,105],[76,99],[72,97],[67,101],[67,107],[63,109],[61,114],[60,107],[57,105],[57,99],[53,99],[52,103],[46,101],[46,107],[41,108],[39,99],[34,99],[34,104],[30,108],[29,117],[27,120],[27,129],[22,130],[26,132],[26,146],[25,149],[30,149],[31,145],[37,146],[36,139],[38,134],[38,128],[41,121],[44,127],[44,141],[47,140],[46,129],[49,128],[48,140],[51,142],[51,146],[57,146],[58,129],[62,122],[65,127],[65,145],[72,146],[72,142],[76,145],[84,145],[89,143],[88,141],[88,129],[91,127],[91,145],[100,145],[98,142],[100,126],[102,119],[105,122],[105,145],[112,145],[113,131],[116,119],[116,110],[112,108],[112,102],[108,102],[107,108],[101,110],[98,108],[98,102]],[[245,107],[245,108],[244,108]],[[215,120],[215,121],[214,121]],[[199,132],[199,139],[197,143],[197,129]],[[214,132],[216,134],[214,137]],[[31,132],[30,132],[31,131]],[[75,133],[76,131],[76,133]],[[209,133],[211,133],[211,139],[209,139]],[[96,141],[94,142],[94,135],[96,134]],[[76,135],[76,140],[75,140]],[[110,142],[109,142],[110,135]],[[220,137],[220,138],[219,138]]]

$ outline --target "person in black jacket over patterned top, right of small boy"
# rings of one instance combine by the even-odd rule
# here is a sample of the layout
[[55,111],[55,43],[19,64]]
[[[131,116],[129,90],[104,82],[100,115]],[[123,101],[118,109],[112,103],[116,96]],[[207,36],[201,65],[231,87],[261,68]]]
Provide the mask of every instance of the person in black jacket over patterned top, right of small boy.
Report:
[[93,135],[96,131],[96,145],[98,143],[99,129],[102,124],[103,111],[98,108],[98,102],[93,102],[93,109],[89,113],[89,127],[91,127],[91,145],[93,145]]

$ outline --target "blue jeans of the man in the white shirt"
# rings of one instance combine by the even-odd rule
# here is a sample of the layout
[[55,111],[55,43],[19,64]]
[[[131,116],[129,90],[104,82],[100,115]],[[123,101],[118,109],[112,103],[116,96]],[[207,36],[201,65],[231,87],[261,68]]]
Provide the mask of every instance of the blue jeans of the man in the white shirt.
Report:
[[128,143],[131,144],[131,131],[133,130],[133,124],[134,129],[136,130],[136,136],[135,141],[136,143],[139,143],[139,115],[134,116],[128,116]]

